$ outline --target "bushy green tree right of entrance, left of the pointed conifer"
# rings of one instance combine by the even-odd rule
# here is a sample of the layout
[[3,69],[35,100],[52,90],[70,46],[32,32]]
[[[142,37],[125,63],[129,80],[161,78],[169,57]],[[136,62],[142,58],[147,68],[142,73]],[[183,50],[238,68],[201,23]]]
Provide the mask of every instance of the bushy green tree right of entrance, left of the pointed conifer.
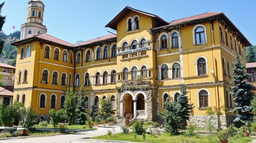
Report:
[[183,119],[180,116],[181,105],[177,102],[170,102],[169,99],[164,103],[164,113],[160,113],[160,116],[165,120],[165,130],[170,135],[178,135],[178,129],[180,128]]

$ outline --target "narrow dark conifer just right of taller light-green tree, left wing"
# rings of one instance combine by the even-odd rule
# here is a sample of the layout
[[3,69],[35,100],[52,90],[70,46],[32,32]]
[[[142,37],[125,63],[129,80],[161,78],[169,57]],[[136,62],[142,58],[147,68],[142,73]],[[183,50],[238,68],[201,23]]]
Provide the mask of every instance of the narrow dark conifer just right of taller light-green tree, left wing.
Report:
[[85,101],[84,91],[81,90],[81,99],[78,101],[78,108],[76,108],[76,120],[81,125],[85,125],[85,122],[87,120],[87,113],[86,113],[86,107],[87,107],[87,101]]

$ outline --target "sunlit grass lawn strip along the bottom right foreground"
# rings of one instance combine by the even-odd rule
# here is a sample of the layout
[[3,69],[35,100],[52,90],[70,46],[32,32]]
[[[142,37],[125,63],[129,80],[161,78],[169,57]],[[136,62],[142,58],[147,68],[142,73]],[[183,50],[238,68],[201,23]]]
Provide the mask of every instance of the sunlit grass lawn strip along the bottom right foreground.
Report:
[[[125,133],[117,133],[115,135],[104,135],[97,136],[91,139],[106,139],[106,140],[116,140],[116,141],[131,141],[131,142],[193,142],[193,143],[207,143],[207,142],[218,142],[218,138],[216,136],[207,136],[207,135],[199,135],[197,137],[187,137],[184,135],[177,136],[169,136],[168,133],[162,133],[161,135],[150,135],[146,134],[146,140],[143,140],[141,135],[138,135],[137,138],[134,137],[132,133],[126,135]],[[229,143],[245,143],[250,142],[252,138],[232,138],[229,139]]]

